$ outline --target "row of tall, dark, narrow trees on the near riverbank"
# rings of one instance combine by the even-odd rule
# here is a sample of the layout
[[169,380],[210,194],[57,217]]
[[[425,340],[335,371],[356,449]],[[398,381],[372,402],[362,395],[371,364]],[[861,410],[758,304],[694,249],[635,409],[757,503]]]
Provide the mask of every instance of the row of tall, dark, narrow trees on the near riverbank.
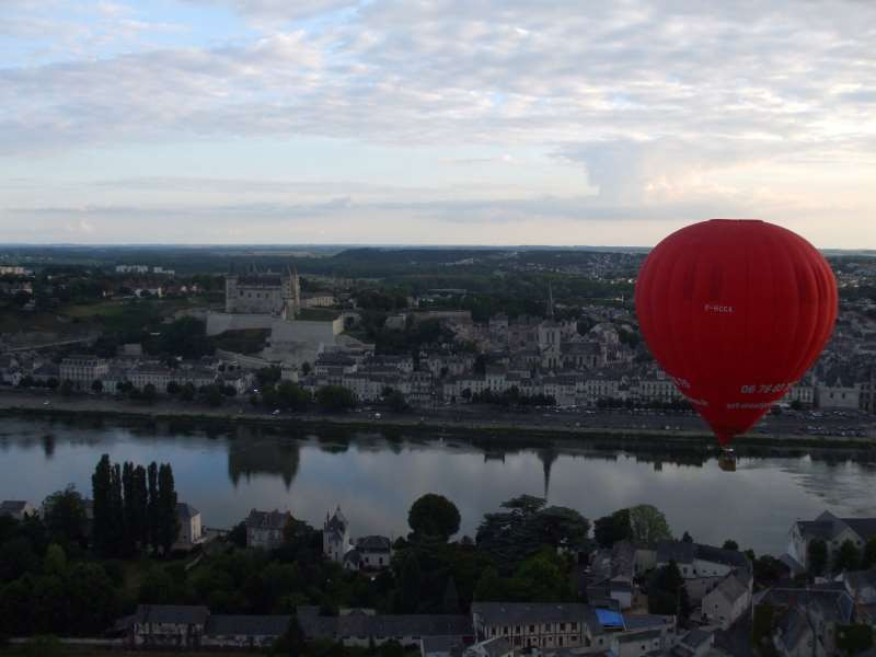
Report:
[[170,463],[148,468],[111,463],[104,454],[91,477],[94,496],[92,542],[104,556],[139,550],[169,554],[180,533],[176,491]]

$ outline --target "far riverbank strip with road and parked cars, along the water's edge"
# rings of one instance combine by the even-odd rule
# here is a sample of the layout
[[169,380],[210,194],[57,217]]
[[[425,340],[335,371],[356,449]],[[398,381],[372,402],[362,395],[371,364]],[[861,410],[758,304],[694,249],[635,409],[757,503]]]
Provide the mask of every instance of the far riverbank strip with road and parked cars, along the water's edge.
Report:
[[[476,410],[477,411],[477,410]],[[715,450],[715,441],[698,417],[679,414],[636,415],[630,412],[550,412],[515,413],[471,408],[413,410],[406,414],[350,412],[344,414],[273,414],[261,412],[243,402],[222,407],[183,404],[160,400],[154,404],[116,401],[99,395],[34,394],[30,391],[0,392],[0,416],[70,419],[115,419],[124,423],[183,423],[216,429],[235,425],[272,427],[292,433],[364,431],[452,437],[466,435],[503,441],[537,439],[598,439],[606,447],[641,446],[698,447]],[[860,422],[860,420],[858,420]],[[834,434],[812,436],[795,430],[793,423],[770,418],[769,433],[740,436],[737,449],[819,448],[874,451],[876,437],[843,436],[844,424]],[[873,424],[871,422],[871,424]]]

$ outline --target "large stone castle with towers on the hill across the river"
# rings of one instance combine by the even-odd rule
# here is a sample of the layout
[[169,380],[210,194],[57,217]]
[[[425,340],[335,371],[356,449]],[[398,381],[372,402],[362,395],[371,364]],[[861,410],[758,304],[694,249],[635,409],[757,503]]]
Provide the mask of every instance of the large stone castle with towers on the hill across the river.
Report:
[[301,283],[298,269],[260,272],[251,266],[246,274],[233,270],[226,276],[226,312],[270,314],[293,320],[301,310]]

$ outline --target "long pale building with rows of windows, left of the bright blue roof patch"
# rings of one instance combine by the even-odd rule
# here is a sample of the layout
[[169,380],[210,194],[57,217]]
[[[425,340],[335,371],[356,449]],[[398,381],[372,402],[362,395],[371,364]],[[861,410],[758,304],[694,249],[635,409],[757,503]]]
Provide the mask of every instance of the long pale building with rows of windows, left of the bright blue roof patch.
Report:
[[602,633],[593,609],[579,603],[473,602],[477,641],[504,636],[512,649],[578,648]]

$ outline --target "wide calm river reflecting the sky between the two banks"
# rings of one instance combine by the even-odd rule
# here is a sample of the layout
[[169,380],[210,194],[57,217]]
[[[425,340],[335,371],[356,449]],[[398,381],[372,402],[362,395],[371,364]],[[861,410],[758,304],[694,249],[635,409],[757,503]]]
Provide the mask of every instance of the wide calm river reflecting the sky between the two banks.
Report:
[[825,509],[876,516],[872,462],[808,454],[739,458],[736,471],[726,472],[714,457],[699,453],[630,453],[568,439],[533,442],[4,418],[0,499],[38,504],[68,484],[90,496],[94,465],[108,453],[118,462],[170,462],[180,500],[214,528],[231,527],[252,508],[289,509],[321,527],[339,505],[354,537],[397,537],[407,531],[411,503],[439,493],[459,507],[461,531],[474,535],[485,512],[529,494],[590,519],[653,504],[678,535],[688,531],[718,545],[734,539],[779,555],[795,519]]

